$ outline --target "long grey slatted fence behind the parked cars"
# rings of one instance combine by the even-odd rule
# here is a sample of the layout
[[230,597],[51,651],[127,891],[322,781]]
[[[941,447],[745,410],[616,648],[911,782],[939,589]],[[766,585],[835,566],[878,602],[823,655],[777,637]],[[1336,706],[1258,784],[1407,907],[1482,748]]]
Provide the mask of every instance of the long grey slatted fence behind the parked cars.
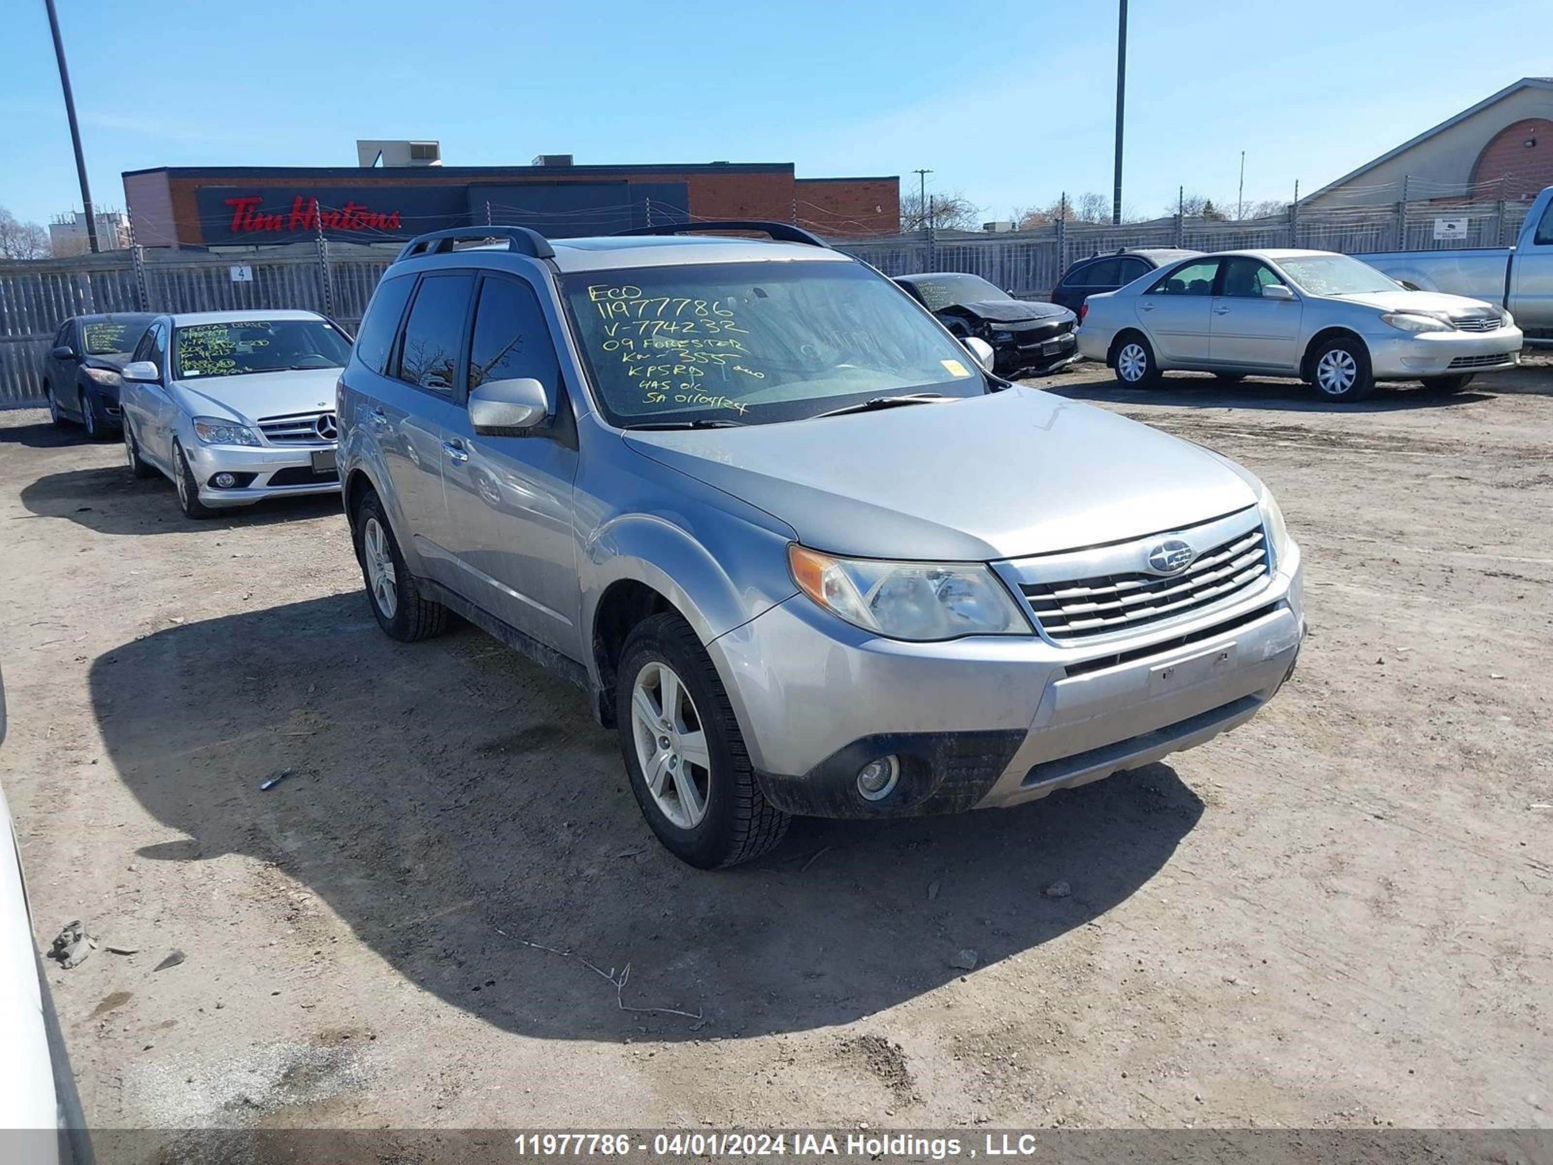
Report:
[[[1075,259],[1121,249],[1309,247],[1354,255],[1500,247],[1514,241],[1525,211],[1523,203],[1505,200],[1402,200],[1322,211],[1292,207],[1287,214],[1233,222],[1174,216],[1121,225],[1054,222],[999,235],[918,231],[834,242],[885,275],[968,272],[1022,298],[1042,298]],[[70,259],[0,261],[0,407],[42,401],[43,356],[70,315],[304,308],[354,331],[393,255],[318,239],[227,255],[137,247]]]

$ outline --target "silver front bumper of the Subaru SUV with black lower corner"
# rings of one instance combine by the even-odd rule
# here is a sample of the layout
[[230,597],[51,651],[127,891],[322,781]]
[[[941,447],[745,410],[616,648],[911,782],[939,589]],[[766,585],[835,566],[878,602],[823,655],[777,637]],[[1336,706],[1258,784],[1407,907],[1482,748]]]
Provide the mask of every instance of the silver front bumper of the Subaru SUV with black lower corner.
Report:
[[[1272,699],[1303,635],[1291,544],[1255,593],[1121,643],[901,643],[797,595],[710,649],[773,805],[891,817],[1017,805],[1194,747]],[[885,755],[899,784],[867,802],[857,769]]]

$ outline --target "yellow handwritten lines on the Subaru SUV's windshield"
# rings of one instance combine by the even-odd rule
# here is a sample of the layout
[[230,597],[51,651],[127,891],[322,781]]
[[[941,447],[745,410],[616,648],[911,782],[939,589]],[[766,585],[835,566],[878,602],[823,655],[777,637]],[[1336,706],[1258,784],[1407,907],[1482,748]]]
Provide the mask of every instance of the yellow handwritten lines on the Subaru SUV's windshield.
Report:
[[595,359],[623,365],[643,404],[742,413],[747,405],[724,391],[736,387],[735,373],[750,387],[766,379],[730,300],[648,295],[631,283],[592,284],[587,298],[598,314],[595,328],[587,329],[595,337]]

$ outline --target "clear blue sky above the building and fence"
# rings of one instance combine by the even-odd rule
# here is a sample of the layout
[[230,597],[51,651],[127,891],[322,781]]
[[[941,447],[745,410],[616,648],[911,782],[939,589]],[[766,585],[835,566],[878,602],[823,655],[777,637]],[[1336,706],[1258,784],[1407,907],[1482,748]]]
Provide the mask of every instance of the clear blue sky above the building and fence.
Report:
[[[985,217],[1110,191],[1114,0],[495,3],[56,0],[99,205],[120,172],[354,165],[795,162],[901,174]],[[1511,81],[1553,71],[1547,0],[1132,0],[1126,202],[1286,199]],[[0,205],[79,205],[42,0],[6,14]],[[1517,31],[1519,30],[1519,31]]]

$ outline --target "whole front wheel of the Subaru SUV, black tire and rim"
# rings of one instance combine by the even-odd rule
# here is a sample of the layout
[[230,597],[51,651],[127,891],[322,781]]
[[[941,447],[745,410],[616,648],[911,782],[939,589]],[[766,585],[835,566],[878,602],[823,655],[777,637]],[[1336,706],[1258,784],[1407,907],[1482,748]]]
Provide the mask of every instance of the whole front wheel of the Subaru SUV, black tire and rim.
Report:
[[682,862],[721,870],[781,840],[790,817],[761,792],[717,669],[679,615],[643,620],[626,638],[615,722],[631,792]]

